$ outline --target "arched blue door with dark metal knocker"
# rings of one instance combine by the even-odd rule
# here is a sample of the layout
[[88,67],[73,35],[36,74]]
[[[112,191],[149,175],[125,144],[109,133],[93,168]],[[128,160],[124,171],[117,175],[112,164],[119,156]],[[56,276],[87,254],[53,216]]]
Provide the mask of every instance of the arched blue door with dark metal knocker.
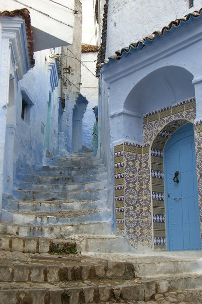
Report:
[[164,151],[167,250],[200,250],[193,125],[179,128]]

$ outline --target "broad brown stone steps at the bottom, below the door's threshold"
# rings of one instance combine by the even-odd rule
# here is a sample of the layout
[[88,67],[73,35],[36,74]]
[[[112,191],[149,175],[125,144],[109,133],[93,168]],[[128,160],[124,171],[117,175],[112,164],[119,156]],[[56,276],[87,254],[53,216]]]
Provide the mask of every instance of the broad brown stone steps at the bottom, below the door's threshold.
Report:
[[0,303],[202,303],[201,270],[201,252],[51,255],[0,251]]

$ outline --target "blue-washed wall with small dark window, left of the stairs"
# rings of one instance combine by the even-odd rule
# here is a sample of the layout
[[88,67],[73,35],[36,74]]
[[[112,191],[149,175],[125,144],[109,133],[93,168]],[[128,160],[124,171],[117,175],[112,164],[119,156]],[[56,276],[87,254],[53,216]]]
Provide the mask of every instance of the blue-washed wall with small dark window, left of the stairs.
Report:
[[[34,54],[35,66],[18,82],[12,109],[8,107],[4,157],[4,193],[11,194],[18,168],[39,167],[46,157],[46,128],[49,92],[51,96],[50,156],[58,151],[58,88],[50,82],[50,50]],[[10,84],[11,86],[11,84]],[[10,93],[12,87],[10,88]],[[15,91],[15,90],[13,90]],[[21,118],[22,98],[31,102],[30,118]]]

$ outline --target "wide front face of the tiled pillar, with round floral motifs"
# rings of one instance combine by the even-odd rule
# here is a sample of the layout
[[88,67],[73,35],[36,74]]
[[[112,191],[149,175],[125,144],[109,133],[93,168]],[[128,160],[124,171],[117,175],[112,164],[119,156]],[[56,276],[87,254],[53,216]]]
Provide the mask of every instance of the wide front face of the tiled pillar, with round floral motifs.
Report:
[[131,245],[152,248],[152,219],[148,159],[143,156],[143,147],[125,144],[125,225]]

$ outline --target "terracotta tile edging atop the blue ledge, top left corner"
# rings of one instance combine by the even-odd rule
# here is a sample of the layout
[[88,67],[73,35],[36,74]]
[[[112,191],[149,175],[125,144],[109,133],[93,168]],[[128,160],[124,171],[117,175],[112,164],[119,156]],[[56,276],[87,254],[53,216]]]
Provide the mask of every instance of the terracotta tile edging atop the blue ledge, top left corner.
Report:
[[32,34],[32,28],[31,28],[31,18],[29,15],[29,11],[27,9],[21,9],[21,10],[15,10],[15,11],[4,11],[0,12],[0,17],[16,17],[20,16],[25,21],[26,26],[26,34],[27,34],[27,44],[28,44],[28,53],[29,53],[29,65],[30,68],[34,66],[34,58],[33,58],[33,34]]

